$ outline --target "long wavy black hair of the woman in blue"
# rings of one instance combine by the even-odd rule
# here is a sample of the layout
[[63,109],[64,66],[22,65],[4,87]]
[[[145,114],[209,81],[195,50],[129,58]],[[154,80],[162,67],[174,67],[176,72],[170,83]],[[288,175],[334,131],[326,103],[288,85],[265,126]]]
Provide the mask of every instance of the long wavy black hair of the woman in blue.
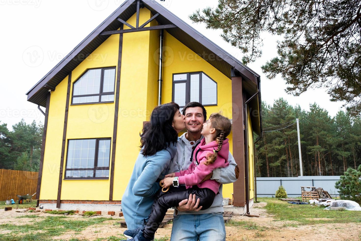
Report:
[[162,104],[153,109],[151,121],[144,125],[140,134],[140,148],[143,156],[155,155],[157,151],[166,149],[170,143],[175,144],[178,133],[172,126],[173,117],[179,105],[174,102]]

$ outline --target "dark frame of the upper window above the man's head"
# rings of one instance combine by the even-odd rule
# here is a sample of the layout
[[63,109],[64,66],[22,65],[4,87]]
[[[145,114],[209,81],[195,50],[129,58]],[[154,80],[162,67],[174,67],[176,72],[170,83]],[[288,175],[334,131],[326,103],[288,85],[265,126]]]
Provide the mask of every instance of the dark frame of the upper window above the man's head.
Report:
[[[187,74],[186,80],[174,80],[174,75],[177,74]],[[208,74],[204,73],[203,71],[196,71],[196,72],[183,72],[183,73],[174,73],[172,75],[172,101],[174,102],[174,87],[175,83],[186,83],[186,104],[190,102],[190,90],[191,90],[191,74],[199,74],[199,103],[202,104],[202,74],[207,76],[210,80],[216,83],[216,104],[202,104],[203,106],[218,106],[218,83],[214,81]],[[184,106],[179,106],[183,108]]]

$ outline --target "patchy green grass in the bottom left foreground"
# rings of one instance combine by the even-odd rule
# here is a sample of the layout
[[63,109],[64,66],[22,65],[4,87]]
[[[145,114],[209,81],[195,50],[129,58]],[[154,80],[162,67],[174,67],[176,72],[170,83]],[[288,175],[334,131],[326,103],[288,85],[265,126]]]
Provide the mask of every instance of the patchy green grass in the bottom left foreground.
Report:
[[23,225],[1,224],[0,231],[9,230],[10,233],[0,234],[1,241],[37,241],[52,240],[52,237],[59,236],[66,231],[79,232],[86,227],[103,223],[109,218],[95,218],[86,220],[72,220],[67,216],[47,217],[43,220],[34,220]]

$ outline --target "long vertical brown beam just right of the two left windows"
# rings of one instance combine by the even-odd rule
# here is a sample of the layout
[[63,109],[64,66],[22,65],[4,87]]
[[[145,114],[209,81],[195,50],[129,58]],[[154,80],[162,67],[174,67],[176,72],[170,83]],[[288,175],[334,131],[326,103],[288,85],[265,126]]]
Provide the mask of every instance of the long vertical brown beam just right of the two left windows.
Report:
[[[122,26],[120,27],[122,28]],[[118,129],[118,111],[119,111],[119,91],[120,91],[120,76],[122,66],[122,49],[123,49],[123,34],[119,34],[119,50],[118,50],[118,66],[117,66],[117,86],[115,92],[115,111],[113,124],[113,146],[112,146],[112,164],[110,166],[110,187],[109,187],[109,201],[113,201],[114,189],[114,165],[115,165],[115,151],[117,146],[117,129]]]

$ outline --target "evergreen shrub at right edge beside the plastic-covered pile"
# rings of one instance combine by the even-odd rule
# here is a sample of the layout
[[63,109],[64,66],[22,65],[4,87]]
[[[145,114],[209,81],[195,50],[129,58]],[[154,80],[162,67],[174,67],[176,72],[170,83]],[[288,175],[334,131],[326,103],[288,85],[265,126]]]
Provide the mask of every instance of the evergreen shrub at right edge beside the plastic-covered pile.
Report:
[[336,181],[335,188],[339,189],[341,199],[361,203],[361,165],[357,169],[348,168]]

